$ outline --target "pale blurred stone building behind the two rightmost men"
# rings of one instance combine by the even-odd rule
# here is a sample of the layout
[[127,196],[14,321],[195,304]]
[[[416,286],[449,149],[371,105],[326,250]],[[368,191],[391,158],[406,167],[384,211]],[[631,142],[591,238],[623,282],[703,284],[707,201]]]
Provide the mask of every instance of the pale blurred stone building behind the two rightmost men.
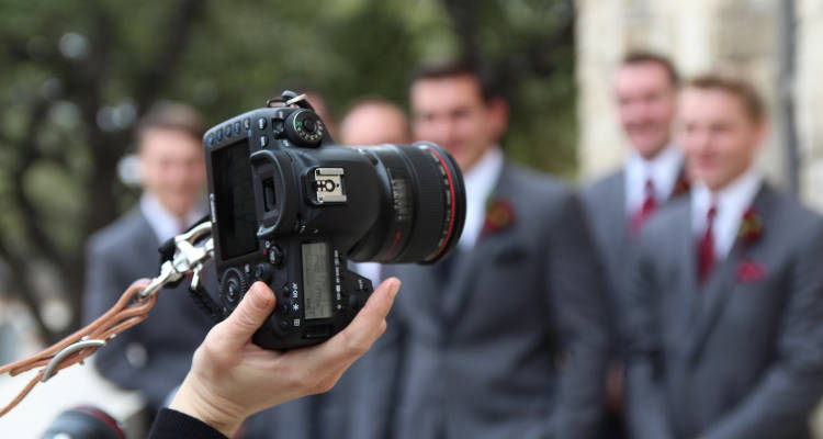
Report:
[[619,166],[625,139],[611,75],[627,50],[672,57],[685,77],[707,70],[749,78],[771,131],[760,156],[769,179],[823,209],[823,1],[575,0],[580,178]]

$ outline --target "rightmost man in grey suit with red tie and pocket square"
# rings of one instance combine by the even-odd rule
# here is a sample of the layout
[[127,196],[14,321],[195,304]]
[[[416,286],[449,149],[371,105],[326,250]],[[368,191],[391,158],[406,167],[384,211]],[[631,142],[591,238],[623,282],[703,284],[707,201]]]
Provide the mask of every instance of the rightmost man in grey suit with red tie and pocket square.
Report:
[[691,194],[643,228],[627,364],[636,438],[809,438],[823,393],[823,218],[754,167],[764,105],[739,79],[688,82]]

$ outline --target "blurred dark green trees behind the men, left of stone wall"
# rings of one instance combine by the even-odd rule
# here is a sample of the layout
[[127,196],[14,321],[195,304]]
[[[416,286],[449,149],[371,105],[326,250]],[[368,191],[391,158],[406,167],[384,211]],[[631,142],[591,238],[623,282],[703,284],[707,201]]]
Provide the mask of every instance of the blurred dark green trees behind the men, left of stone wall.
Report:
[[0,291],[47,340],[78,325],[83,243],[136,200],[117,162],[158,99],[213,122],[295,83],[403,103],[419,60],[464,54],[507,86],[509,154],[572,175],[573,35],[571,0],[0,0]]

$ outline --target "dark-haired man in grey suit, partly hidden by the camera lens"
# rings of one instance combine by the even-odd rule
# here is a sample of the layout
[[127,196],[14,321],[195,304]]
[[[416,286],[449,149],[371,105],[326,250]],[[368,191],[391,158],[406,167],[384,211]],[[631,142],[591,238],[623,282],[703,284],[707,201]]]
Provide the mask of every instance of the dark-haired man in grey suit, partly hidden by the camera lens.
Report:
[[365,359],[358,425],[376,428],[372,437],[590,437],[598,427],[607,313],[583,213],[561,183],[504,158],[508,108],[489,86],[460,63],[412,82],[415,138],[459,162],[466,219],[449,259],[383,267],[408,300],[397,299]]

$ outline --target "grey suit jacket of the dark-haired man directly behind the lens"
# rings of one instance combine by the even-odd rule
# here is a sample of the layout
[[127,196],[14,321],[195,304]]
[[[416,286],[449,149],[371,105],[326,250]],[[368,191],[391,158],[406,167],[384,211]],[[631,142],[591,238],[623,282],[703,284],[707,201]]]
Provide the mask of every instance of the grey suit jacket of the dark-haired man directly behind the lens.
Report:
[[357,437],[586,438],[599,428],[609,322],[577,199],[511,164],[494,196],[514,222],[481,237],[448,284],[436,267],[384,266],[403,286],[358,387],[356,426],[377,431]]

